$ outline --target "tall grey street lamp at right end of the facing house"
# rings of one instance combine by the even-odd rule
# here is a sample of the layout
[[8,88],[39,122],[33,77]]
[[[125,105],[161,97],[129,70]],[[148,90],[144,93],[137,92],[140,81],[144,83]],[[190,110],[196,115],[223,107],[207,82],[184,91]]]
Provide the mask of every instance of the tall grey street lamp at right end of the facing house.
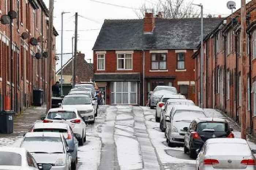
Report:
[[203,52],[203,5],[192,4],[201,7],[201,54],[200,54],[200,107],[203,108],[203,64],[204,64],[204,52]]

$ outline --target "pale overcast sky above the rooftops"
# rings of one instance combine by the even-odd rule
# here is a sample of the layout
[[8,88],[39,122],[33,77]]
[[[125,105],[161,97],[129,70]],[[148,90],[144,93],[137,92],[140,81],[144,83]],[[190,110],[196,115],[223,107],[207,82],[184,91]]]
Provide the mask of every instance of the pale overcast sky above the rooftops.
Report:
[[[104,3],[122,5],[126,7],[138,8],[143,3],[156,3],[158,0],[97,0]],[[194,0],[193,3],[203,4],[204,14],[231,14],[227,9],[228,0]],[[241,0],[234,0],[237,9],[241,7]],[[248,2],[250,0],[246,0]],[[49,7],[49,0],[44,0]],[[71,12],[64,14],[63,17],[63,53],[72,52],[71,38],[75,29],[75,12],[78,15],[78,51],[85,54],[85,58],[93,58],[94,42],[99,34],[104,19],[137,19],[135,10],[97,3],[91,0],[55,0],[54,1],[54,27],[59,33],[56,39],[57,52],[61,52],[61,12]],[[226,15],[225,15],[226,16]],[[87,19],[85,19],[87,18]],[[72,31],[71,31],[72,30]],[[71,57],[71,55],[63,55],[63,64]],[[87,60],[90,62],[89,60]],[[60,61],[56,65],[56,70],[60,68]]]

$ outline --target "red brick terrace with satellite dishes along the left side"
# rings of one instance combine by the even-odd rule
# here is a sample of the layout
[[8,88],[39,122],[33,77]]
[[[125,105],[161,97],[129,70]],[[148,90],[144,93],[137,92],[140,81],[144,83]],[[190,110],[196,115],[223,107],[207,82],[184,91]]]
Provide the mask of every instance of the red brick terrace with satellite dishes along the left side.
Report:
[[[49,11],[43,0],[0,0],[0,16],[9,11],[17,15],[12,19],[11,29],[10,24],[0,23],[0,110],[20,113],[32,105],[34,89],[42,89],[45,100],[47,63],[52,60],[54,75],[58,33],[54,29],[53,46],[47,47]],[[44,53],[48,48],[53,50],[53,56]]]

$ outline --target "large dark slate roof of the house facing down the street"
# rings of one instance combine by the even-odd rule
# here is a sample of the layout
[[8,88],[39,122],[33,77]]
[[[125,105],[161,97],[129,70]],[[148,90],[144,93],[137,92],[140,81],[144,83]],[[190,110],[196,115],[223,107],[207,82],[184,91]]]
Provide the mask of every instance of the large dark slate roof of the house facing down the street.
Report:
[[[204,18],[204,36],[222,20]],[[153,34],[143,34],[143,19],[105,19],[93,50],[196,49],[200,27],[200,18],[155,18]]]

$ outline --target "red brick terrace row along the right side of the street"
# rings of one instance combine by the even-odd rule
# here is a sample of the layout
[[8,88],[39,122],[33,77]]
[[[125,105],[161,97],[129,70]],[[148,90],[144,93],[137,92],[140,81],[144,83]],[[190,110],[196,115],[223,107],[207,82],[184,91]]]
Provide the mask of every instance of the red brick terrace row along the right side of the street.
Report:
[[[246,4],[246,73],[242,75],[240,45],[240,9],[224,22],[217,24],[203,42],[204,46],[204,83],[203,107],[216,108],[241,122],[242,77],[246,76],[246,127],[249,133],[256,134],[256,0]],[[196,79],[196,103],[200,102],[200,49],[193,54]]]

